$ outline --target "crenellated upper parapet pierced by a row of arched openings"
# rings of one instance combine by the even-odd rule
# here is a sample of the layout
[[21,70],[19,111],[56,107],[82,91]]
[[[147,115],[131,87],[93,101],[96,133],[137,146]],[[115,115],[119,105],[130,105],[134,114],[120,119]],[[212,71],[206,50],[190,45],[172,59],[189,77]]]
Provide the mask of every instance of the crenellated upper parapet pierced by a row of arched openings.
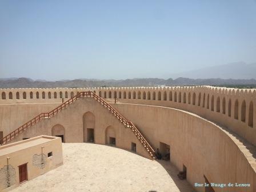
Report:
[[256,90],[225,87],[119,87],[0,89],[2,103],[61,102],[79,91],[94,91],[106,99],[174,107],[228,127],[256,146]]

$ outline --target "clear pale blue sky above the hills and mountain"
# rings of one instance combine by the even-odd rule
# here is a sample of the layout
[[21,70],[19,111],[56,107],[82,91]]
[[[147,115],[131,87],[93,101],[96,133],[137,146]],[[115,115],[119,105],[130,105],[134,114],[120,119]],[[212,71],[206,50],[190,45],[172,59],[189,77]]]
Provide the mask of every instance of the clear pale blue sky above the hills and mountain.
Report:
[[0,1],[0,78],[171,78],[256,62],[256,0]]

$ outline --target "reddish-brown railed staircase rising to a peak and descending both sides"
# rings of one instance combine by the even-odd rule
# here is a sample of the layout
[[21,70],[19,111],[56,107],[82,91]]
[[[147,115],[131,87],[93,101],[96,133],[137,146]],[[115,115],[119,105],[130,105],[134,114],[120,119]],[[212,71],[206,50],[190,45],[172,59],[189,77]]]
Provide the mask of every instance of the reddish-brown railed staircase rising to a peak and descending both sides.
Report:
[[94,98],[95,101],[97,101],[107,110],[109,110],[110,113],[112,113],[121,123],[123,123],[123,125],[126,128],[129,128],[131,129],[131,131],[133,131],[134,135],[139,139],[139,142],[141,142],[141,145],[145,148],[147,153],[149,153],[150,157],[155,159],[155,151],[153,147],[151,147],[149,142],[147,142],[146,138],[143,137],[141,131],[139,131],[139,129],[131,121],[128,121],[126,118],[124,118],[121,114],[118,113],[116,109],[114,109],[114,107],[112,107],[109,103],[107,103],[104,99],[99,97],[93,91],[80,92],[77,95],[75,95],[73,98],[67,100],[66,102],[56,107],[55,109],[51,110],[49,113],[41,113],[37,115],[37,117],[34,117],[29,122],[25,123],[18,129],[12,131],[10,134],[1,138],[0,143],[2,143],[2,145],[5,145],[7,142],[11,141],[11,139],[16,137],[18,134],[22,133],[23,131],[26,131],[27,129],[29,129],[29,127],[35,125],[35,123],[42,121],[43,119],[46,119],[46,118],[54,117],[54,115],[61,112],[63,109],[65,109],[67,106],[74,103],[79,98]]

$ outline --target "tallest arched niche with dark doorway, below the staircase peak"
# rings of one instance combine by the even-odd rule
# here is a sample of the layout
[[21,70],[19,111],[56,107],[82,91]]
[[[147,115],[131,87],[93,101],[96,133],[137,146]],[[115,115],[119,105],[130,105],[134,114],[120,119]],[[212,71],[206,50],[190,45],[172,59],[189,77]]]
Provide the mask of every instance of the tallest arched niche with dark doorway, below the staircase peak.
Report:
[[83,114],[83,142],[95,142],[95,116],[91,112]]

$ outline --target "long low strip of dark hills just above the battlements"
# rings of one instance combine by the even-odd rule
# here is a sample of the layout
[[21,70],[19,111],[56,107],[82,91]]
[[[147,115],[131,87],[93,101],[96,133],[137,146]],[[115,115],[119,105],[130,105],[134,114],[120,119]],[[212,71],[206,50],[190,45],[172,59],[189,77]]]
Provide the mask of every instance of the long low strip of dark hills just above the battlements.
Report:
[[141,87],[141,86],[185,86],[185,85],[250,85],[256,87],[255,79],[159,79],[136,78],[125,80],[74,79],[65,81],[33,81],[29,78],[0,79],[0,88],[54,88],[54,87]]

